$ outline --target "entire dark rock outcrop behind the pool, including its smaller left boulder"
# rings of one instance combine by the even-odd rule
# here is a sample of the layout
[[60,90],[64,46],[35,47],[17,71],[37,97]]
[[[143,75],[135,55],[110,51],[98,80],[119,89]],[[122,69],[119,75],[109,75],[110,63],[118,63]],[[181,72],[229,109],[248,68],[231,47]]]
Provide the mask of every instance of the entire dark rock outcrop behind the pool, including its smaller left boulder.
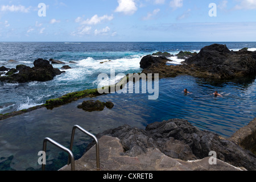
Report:
[[[183,52],[184,53],[184,52]],[[193,55],[193,56],[192,56]],[[143,73],[159,73],[160,77],[188,74],[201,78],[228,80],[256,75],[256,51],[230,51],[225,45],[212,44],[193,53],[182,65],[166,65],[166,57],[144,56]]]

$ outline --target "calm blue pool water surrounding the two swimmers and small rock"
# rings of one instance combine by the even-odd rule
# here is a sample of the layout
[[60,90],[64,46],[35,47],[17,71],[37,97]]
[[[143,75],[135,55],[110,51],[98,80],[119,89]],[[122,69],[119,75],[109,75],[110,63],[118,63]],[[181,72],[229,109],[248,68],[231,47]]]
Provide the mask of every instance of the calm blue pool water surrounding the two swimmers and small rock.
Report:
[[[124,124],[144,129],[148,123],[171,118],[187,119],[202,130],[230,137],[256,116],[254,80],[238,83],[209,84],[191,76],[162,78],[158,100],[147,94],[107,94],[94,98],[112,101],[113,109],[85,112],[71,104],[31,111],[0,122],[0,170],[40,170],[38,152],[43,139],[52,138],[69,146],[72,127],[80,125],[93,134]],[[187,88],[191,94],[182,91]],[[218,90],[223,97],[214,97]],[[91,140],[77,132],[74,153],[79,158]],[[47,145],[47,170],[57,170],[67,163],[67,154]]]

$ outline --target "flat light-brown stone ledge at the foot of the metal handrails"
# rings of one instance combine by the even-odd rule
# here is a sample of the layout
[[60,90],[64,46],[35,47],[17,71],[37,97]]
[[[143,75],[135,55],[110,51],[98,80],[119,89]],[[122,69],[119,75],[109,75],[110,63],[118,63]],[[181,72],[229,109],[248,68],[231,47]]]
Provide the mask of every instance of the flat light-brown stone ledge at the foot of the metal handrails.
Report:
[[[216,165],[210,165],[210,157],[184,161],[170,158],[155,148],[147,149],[138,156],[122,155],[123,146],[120,139],[103,136],[98,139],[100,143],[100,169],[101,171],[242,171],[221,160]],[[93,146],[82,158],[75,161],[76,171],[96,171],[96,147]],[[64,166],[59,171],[71,171],[71,166]]]

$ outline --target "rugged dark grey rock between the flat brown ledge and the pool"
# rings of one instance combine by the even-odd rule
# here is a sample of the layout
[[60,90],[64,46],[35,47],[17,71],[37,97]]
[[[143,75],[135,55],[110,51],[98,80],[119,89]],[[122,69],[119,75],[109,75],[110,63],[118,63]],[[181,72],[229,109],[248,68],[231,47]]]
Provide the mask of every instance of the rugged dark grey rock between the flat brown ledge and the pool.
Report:
[[256,169],[256,156],[236,143],[209,131],[201,131],[183,119],[155,122],[146,130],[128,125],[98,134],[117,137],[125,150],[123,155],[138,156],[148,148],[158,148],[163,154],[175,159],[195,160],[217,153],[217,159],[247,170]]

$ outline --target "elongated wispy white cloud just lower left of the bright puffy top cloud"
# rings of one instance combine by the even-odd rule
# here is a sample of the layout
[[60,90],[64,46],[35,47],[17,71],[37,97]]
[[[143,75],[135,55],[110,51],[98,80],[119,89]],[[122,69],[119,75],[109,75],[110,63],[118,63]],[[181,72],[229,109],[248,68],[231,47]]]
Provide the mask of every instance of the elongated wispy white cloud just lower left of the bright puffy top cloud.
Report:
[[102,21],[104,20],[112,20],[114,18],[113,15],[103,15],[103,16],[98,16],[98,15],[94,15],[92,16],[92,18],[88,18],[86,20],[83,20],[80,16],[77,17],[75,19],[75,22],[76,23],[81,23],[81,24],[89,24],[89,25],[93,25],[93,24],[98,24],[98,23],[101,23]]

